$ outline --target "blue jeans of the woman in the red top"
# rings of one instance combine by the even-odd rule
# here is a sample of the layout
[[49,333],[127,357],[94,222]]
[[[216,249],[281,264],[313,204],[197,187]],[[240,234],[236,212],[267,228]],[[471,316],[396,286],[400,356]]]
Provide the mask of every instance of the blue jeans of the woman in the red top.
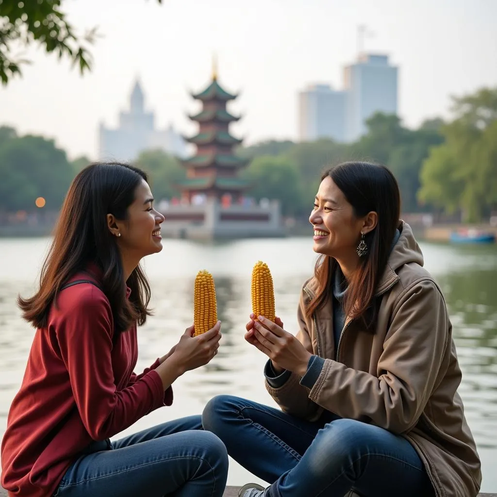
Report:
[[54,496],[222,497],[227,477],[225,446],[202,430],[200,416],[189,416],[92,443]]

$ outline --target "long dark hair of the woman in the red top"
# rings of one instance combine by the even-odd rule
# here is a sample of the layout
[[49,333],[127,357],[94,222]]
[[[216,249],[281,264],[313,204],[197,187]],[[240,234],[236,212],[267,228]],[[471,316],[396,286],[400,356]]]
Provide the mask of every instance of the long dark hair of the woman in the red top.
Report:
[[[30,298],[17,298],[23,318],[36,328],[47,326],[48,314],[61,287],[94,263],[102,272],[101,287],[109,300],[114,336],[150,315],[150,285],[140,266],[124,281],[119,248],[107,227],[107,214],[127,219],[135,190],[147,174],[120,163],[95,163],[73,180],[62,205],[54,240],[43,263],[40,288]],[[126,285],[131,289],[126,298]]]

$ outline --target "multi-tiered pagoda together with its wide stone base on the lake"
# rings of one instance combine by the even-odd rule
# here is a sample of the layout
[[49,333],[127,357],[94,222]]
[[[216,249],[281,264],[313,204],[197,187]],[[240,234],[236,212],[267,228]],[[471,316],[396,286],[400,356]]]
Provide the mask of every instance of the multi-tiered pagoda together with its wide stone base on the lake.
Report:
[[[186,178],[178,183],[181,199],[163,202],[163,236],[197,240],[281,237],[285,229],[277,200],[258,205],[245,195],[250,183],[239,176],[249,160],[236,155],[242,140],[230,133],[229,125],[240,119],[227,109],[237,95],[226,91],[214,67],[208,86],[192,97],[202,102],[200,112],[190,115],[198,133],[187,141],[196,153],[181,161]],[[176,200],[173,202],[173,200]]]

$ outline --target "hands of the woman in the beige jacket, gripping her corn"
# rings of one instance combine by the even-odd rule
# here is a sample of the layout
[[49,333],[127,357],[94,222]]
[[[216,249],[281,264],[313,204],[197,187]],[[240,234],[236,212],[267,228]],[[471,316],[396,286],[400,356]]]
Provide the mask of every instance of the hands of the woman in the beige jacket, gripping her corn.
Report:
[[306,374],[307,364],[312,354],[294,335],[262,316],[254,321],[251,332],[253,333],[252,340],[248,339],[250,337],[247,338],[250,333],[248,331],[247,341],[264,352],[271,361],[299,376]]

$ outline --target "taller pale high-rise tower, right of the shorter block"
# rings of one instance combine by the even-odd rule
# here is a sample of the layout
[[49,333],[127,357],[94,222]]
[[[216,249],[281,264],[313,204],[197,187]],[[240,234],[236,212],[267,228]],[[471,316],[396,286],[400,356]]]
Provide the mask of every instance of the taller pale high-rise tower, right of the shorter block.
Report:
[[366,132],[366,120],[375,112],[397,114],[398,69],[387,55],[363,55],[344,70],[347,92],[345,139],[357,140]]

